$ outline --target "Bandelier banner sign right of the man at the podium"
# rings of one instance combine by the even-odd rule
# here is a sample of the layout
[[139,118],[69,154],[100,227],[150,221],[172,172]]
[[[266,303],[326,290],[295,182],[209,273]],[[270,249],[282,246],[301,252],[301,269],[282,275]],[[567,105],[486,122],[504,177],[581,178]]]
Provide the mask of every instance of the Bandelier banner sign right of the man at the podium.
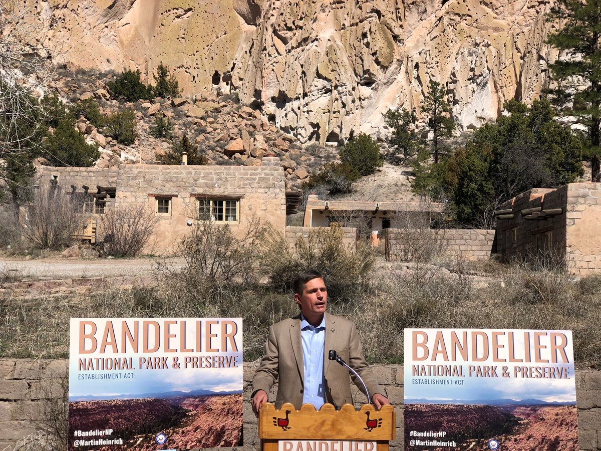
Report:
[[571,331],[404,330],[406,450],[578,450]]

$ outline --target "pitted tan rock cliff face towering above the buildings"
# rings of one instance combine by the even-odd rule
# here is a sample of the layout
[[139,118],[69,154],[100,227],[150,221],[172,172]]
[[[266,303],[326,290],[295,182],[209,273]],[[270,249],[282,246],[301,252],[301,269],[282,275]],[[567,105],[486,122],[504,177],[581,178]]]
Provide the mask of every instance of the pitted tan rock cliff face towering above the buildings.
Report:
[[153,72],[185,94],[221,87],[263,105],[299,140],[382,132],[387,108],[415,108],[429,79],[461,130],[505,100],[540,95],[548,0],[52,0],[43,3],[82,67]]

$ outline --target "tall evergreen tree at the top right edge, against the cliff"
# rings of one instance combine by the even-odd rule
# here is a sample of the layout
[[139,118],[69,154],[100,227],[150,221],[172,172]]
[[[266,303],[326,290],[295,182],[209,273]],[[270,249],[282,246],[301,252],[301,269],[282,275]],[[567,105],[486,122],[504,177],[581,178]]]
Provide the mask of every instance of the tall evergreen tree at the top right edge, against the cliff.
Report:
[[564,115],[584,126],[584,155],[591,161],[593,182],[600,182],[601,0],[558,0],[549,20],[560,21],[548,42],[561,53],[549,64],[557,88],[548,93]]

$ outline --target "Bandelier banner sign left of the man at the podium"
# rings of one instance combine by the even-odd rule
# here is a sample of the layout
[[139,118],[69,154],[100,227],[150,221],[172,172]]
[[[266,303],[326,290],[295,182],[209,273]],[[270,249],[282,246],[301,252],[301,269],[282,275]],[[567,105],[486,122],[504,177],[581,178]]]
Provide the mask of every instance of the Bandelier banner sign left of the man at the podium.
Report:
[[242,319],[71,319],[69,450],[241,441]]

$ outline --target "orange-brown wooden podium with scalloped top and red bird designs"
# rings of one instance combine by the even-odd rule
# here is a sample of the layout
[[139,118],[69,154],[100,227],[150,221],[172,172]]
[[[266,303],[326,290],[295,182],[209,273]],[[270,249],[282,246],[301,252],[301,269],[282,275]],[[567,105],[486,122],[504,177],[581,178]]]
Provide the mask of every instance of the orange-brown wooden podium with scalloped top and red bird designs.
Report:
[[289,402],[276,410],[267,402],[259,411],[258,426],[263,451],[371,451],[374,442],[373,451],[388,451],[396,419],[391,405],[376,411],[364,404],[357,411],[345,404],[337,411],[332,404],[324,404],[317,411],[313,404],[296,410]]

